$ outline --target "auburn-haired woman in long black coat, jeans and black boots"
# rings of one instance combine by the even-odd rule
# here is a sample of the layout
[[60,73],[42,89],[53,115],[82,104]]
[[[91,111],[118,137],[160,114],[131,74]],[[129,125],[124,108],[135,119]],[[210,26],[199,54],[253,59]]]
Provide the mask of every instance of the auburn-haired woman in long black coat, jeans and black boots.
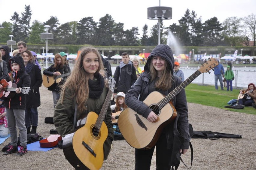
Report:
[[41,70],[38,65],[35,64],[34,56],[29,50],[25,50],[21,53],[24,60],[26,73],[29,74],[31,85],[29,95],[27,96],[26,109],[25,109],[25,124],[27,128],[27,133],[30,133],[30,128],[32,125],[31,133],[36,133],[36,128],[38,125],[38,110],[37,107],[40,106],[40,93],[39,87],[41,87],[43,79]]

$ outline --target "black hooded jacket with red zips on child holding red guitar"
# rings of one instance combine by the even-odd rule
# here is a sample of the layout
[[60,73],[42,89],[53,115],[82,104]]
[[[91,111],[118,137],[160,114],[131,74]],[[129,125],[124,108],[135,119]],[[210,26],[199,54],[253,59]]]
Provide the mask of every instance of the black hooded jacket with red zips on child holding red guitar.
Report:
[[[30,76],[25,71],[25,65],[23,58],[20,56],[14,56],[9,60],[9,66],[11,67],[11,60],[15,60],[20,65],[20,70],[14,72],[12,83],[16,83],[17,87],[30,87]],[[11,81],[9,75],[5,77],[7,81]],[[13,98],[5,98],[4,106],[12,109],[25,109],[26,94],[16,92]]]

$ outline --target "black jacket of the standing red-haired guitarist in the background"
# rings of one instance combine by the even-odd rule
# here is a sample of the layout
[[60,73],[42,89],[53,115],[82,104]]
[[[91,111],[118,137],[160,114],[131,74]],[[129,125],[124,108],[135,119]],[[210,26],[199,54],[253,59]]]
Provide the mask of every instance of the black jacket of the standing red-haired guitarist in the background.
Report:
[[[66,65],[63,65],[62,68],[56,68],[56,67],[53,67],[53,65],[51,65],[50,67],[48,67],[47,69],[45,69],[43,71],[43,74],[44,75],[48,75],[48,76],[53,76],[53,73],[56,72],[56,71],[59,71],[60,74],[66,74],[68,73],[68,69],[66,67]],[[63,84],[66,80],[66,77],[62,77],[63,80],[59,83],[53,83],[53,85],[51,85],[50,87],[48,87],[48,90],[50,91],[56,91],[56,92],[59,92],[60,90],[60,85]]]

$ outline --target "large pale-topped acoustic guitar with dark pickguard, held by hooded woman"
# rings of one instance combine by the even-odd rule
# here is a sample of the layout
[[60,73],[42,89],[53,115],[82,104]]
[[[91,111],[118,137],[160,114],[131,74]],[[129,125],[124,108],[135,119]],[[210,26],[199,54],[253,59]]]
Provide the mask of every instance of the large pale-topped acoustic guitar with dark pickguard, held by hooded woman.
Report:
[[153,147],[162,129],[172,122],[177,115],[171,100],[201,73],[208,72],[217,65],[217,59],[210,58],[167,96],[163,96],[157,91],[150,93],[143,102],[157,114],[158,119],[154,123],[149,122],[131,108],[124,109],[118,117],[118,127],[127,143],[137,149],[150,149]]

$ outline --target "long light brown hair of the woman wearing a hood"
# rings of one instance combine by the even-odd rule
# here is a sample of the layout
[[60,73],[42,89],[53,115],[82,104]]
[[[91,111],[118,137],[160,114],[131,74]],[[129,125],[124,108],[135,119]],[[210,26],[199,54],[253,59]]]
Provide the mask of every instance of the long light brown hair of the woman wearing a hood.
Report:
[[[148,61],[149,62],[149,61]],[[153,59],[151,59],[149,64],[149,73],[151,75],[151,82],[157,77],[157,70],[153,66]],[[172,87],[173,77],[171,69],[168,66],[168,62],[165,60],[164,66],[166,69],[163,70],[161,77],[156,82],[155,87],[157,89],[168,90]]]

